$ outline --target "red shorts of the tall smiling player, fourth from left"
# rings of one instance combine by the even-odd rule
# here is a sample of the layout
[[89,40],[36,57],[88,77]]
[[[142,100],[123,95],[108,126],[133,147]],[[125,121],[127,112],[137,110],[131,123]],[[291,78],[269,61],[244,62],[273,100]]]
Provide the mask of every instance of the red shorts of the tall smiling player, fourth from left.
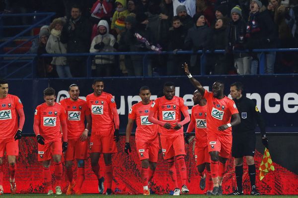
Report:
[[[114,129],[113,129],[114,130]],[[92,152],[115,153],[117,152],[113,131],[104,131],[92,134],[90,138],[90,149]]]

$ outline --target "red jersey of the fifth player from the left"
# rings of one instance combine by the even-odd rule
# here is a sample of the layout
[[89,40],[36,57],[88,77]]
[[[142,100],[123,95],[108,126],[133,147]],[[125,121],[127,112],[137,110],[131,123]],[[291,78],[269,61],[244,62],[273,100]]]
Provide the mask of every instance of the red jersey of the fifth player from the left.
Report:
[[[158,125],[148,121],[149,109],[153,101],[134,104],[129,110],[128,118],[136,120],[136,142],[158,143]],[[154,115],[157,118],[157,114]]]

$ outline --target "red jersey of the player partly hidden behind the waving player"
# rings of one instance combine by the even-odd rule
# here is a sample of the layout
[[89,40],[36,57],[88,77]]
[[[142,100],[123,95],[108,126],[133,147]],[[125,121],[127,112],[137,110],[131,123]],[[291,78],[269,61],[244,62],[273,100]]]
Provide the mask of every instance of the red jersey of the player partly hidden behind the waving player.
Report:
[[190,121],[195,125],[196,142],[205,142],[207,144],[207,105],[194,105],[191,108]]

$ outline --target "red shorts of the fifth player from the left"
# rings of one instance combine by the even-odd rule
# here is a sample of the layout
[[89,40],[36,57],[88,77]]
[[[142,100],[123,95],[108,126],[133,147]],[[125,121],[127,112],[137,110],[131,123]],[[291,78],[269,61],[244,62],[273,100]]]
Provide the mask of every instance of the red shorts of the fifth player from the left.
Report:
[[136,147],[141,161],[149,159],[151,162],[157,162],[159,143],[136,142]]

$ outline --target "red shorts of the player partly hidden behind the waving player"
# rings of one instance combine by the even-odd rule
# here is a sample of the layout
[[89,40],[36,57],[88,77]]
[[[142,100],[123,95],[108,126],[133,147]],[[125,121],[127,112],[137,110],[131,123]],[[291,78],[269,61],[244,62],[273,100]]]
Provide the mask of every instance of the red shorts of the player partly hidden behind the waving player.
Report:
[[201,165],[203,163],[210,163],[211,158],[208,151],[208,145],[206,142],[196,142],[195,145],[195,160],[196,165]]

